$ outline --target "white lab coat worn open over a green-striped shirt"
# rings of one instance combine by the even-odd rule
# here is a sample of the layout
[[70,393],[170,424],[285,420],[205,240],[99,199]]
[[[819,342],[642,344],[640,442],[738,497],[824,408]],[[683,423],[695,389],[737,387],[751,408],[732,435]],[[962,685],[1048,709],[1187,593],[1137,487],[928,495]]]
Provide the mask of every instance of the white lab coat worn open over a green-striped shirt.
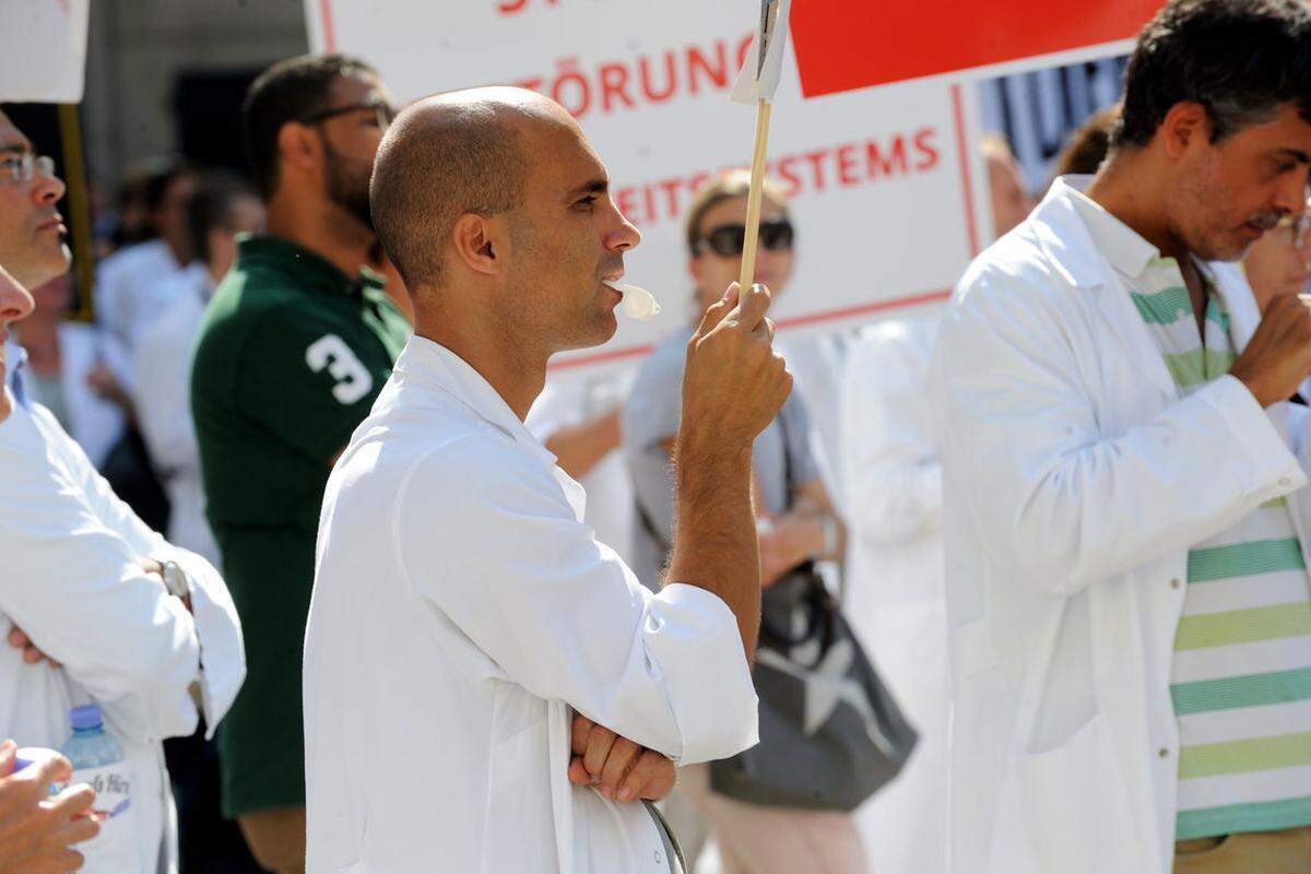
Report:
[[[1180,400],[1075,197],[974,262],[935,362],[961,874],[1167,874],[1189,546],[1290,493],[1311,545],[1287,405],[1231,376]],[[1214,274],[1242,349],[1251,290]]]

